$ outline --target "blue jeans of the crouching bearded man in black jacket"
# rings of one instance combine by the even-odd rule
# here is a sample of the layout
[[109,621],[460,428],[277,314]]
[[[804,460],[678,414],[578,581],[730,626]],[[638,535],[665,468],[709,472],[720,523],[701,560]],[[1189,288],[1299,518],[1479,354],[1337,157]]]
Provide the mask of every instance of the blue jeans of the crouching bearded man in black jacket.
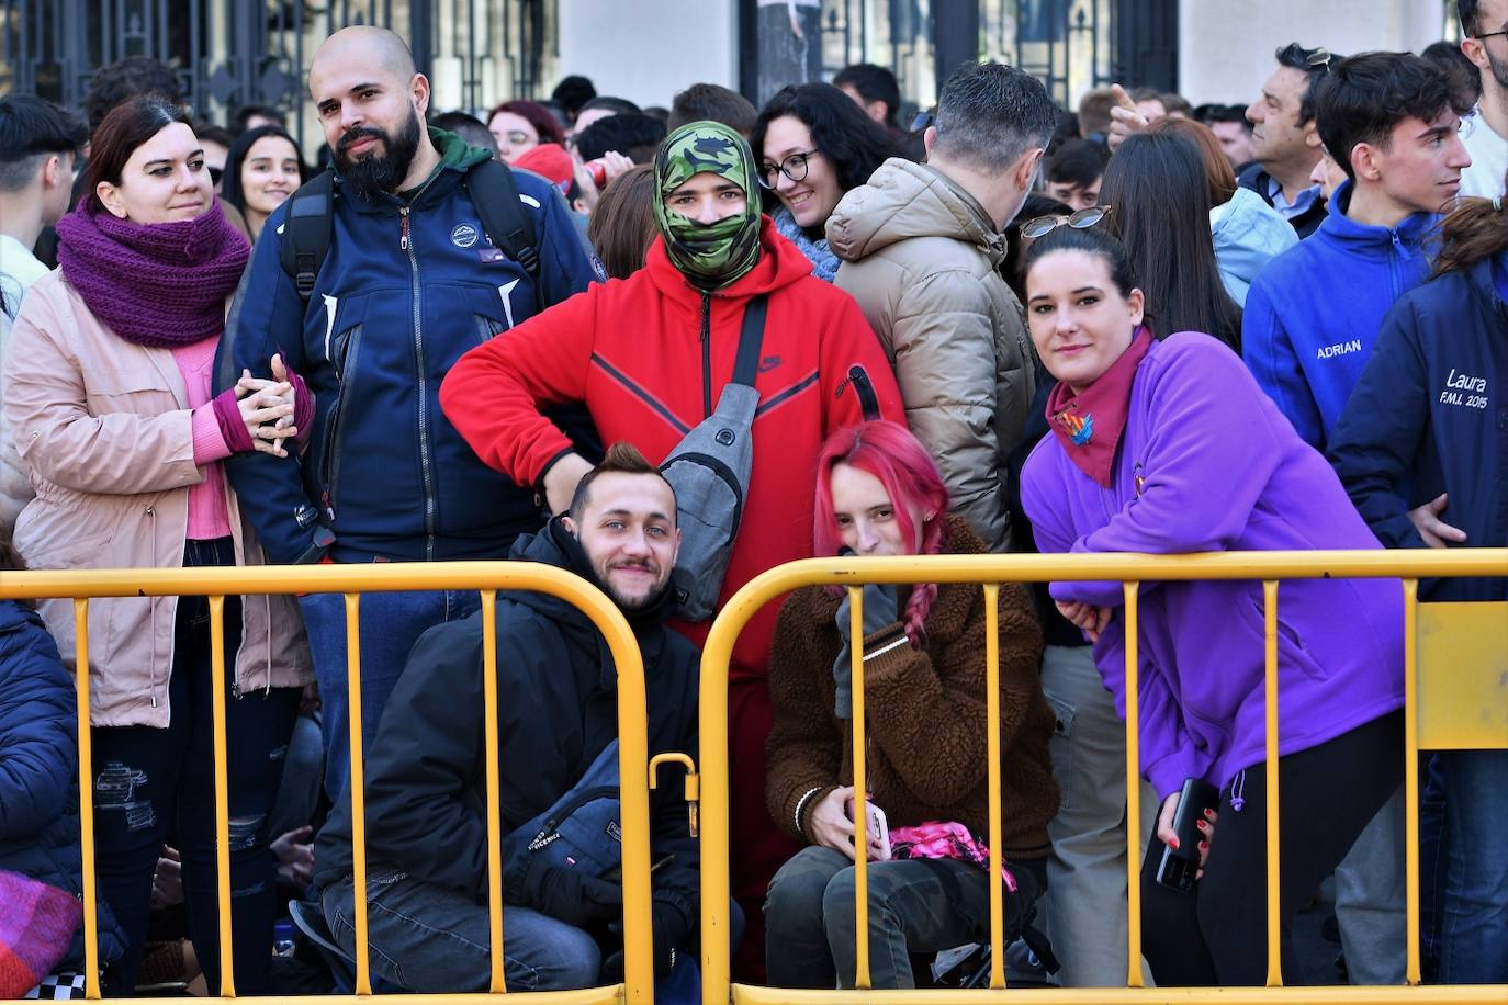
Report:
[[[335,942],[356,955],[354,887],[324,890]],[[410,991],[486,991],[492,979],[487,909],[469,895],[374,869],[366,877],[366,945],[372,973]],[[510,991],[596,987],[602,949],[581,928],[528,907],[502,912],[502,975]]]

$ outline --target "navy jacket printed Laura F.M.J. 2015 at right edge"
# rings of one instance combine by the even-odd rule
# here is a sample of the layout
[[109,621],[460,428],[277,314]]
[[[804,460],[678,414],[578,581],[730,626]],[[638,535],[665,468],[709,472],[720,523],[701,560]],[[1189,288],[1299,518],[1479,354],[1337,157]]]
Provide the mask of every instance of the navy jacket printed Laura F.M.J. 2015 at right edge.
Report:
[[[1351,502],[1390,548],[1422,548],[1408,508],[1440,493],[1440,520],[1463,547],[1508,545],[1508,255],[1411,291],[1377,348],[1330,441]],[[1401,499],[1402,485],[1418,487]],[[1454,547],[1454,545],[1452,545]],[[1421,585],[1428,600],[1508,600],[1508,576]]]

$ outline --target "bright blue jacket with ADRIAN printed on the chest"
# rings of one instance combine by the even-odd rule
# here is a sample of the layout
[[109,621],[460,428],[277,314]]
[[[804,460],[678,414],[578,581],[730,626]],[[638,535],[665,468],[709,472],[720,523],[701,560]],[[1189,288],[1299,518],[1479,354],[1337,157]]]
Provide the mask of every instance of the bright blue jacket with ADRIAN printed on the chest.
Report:
[[1241,321],[1241,356],[1256,383],[1321,451],[1389,307],[1428,274],[1422,243],[1439,218],[1416,212],[1392,229],[1365,226],[1345,215],[1350,202],[1347,181],[1320,229],[1258,274]]

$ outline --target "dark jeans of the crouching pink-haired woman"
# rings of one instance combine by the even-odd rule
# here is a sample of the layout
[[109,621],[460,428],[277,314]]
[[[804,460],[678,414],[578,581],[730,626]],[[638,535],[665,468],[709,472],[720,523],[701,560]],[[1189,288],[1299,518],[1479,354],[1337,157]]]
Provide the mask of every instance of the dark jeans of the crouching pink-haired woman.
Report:
[[[1042,862],[1015,866],[1025,904],[1045,881]],[[765,964],[772,987],[854,987],[854,862],[810,845],[780,866],[765,901]],[[1007,940],[1010,937],[1007,904]],[[869,975],[875,988],[915,987],[912,952],[952,949],[989,933],[989,875],[950,859],[872,862]]]

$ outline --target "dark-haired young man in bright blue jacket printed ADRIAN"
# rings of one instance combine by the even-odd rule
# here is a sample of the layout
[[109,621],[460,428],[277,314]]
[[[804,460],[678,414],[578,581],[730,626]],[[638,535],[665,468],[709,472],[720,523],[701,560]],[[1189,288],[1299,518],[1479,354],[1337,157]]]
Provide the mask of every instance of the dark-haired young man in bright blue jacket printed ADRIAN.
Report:
[[1320,136],[1347,181],[1330,214],[1258,274],[1243,356],[1298,435],[1324,449],[1362,375],[1383,316],[1424,282],[1424,240],[1470,157],[1451,87],[1408,53],[1330,66],[1315,98]]

